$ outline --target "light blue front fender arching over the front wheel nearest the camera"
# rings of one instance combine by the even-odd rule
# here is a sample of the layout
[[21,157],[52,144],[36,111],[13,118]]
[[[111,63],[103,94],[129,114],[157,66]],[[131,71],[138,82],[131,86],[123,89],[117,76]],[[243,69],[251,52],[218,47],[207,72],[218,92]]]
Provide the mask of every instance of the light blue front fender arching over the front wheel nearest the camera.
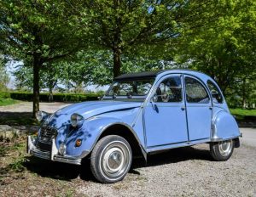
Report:
[[[102,132],[114,124],[121,124],[129,128],[134,134],[135,138],[137,138],[136,132],[134,132],[129,125],[122,122],[118,118],[93,117],[84,121],[83,126],[76,131],[73,131],[73,134],[67,138],[67,155],[73,155],[80,158],[84,157],[84,155],[88,155],[94,148]],[[75,147],[75,141],[78,138],[82,140],[82,144],[79,147]],[[140,144],[139,138],[137,138],[137,141]]]

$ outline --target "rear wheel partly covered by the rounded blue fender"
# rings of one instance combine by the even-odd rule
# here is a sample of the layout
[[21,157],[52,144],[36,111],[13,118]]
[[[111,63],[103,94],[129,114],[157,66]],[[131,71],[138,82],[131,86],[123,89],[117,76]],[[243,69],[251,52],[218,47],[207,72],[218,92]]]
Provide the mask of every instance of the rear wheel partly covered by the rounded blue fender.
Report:
[[214,160],[224,161],[229,160],[234,150],[234,140],[225,140],[218,143],[210,144],[210,153]]

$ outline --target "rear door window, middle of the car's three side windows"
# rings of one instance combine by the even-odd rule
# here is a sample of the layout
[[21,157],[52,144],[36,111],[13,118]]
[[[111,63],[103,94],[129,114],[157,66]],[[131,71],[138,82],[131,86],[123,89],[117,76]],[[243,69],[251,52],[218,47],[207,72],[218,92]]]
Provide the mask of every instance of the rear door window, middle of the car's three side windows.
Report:
[[208,104],[209,95],[205,87],[194,78],[185,77],[186,98],[188,103]]

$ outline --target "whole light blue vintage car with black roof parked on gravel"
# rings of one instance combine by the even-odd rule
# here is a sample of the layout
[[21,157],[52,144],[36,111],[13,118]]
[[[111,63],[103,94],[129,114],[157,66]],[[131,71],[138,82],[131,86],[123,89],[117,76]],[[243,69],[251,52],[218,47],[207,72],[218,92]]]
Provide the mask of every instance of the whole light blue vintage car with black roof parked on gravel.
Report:
[[38,136],[27,151],[46,160],[90,167],[99,182],[114,183],[134,157],[194,144],[210,144],[214,160],[228,160],[241,133],[218,85],[193,70],[118,76],[100,101],[38,112]]

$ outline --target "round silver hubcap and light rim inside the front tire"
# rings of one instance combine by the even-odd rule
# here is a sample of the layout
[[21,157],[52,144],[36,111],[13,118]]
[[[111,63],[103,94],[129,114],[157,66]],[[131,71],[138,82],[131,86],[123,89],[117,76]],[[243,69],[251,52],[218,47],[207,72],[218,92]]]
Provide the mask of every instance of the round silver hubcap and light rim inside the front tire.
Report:
[[125,144],[108,144],[102,153],[102,171],[107,177],[118,178],[124,174],[131,162],[131,153]]

